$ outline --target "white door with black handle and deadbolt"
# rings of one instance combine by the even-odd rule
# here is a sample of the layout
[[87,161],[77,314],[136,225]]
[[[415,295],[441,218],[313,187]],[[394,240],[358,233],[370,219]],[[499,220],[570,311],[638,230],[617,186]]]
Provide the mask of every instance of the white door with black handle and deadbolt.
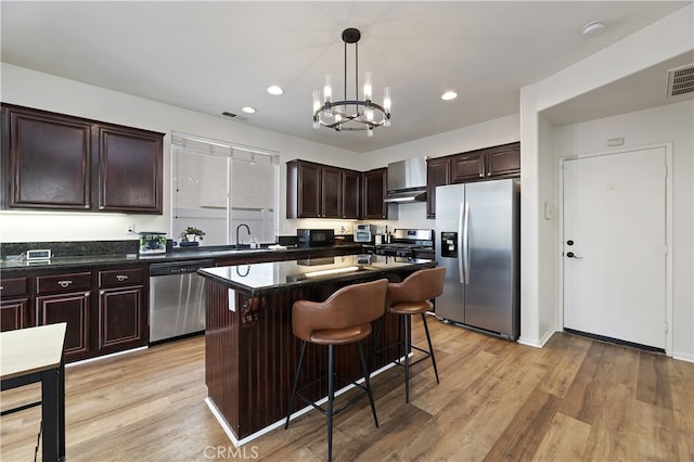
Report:
[[666,150],[564,162],[564,326],[666,347]]

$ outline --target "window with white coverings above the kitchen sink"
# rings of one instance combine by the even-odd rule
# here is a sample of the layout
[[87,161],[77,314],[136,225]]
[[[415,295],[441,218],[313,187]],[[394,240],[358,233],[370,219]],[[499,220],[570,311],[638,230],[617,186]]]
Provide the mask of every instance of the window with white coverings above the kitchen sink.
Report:
[[194,227],[205,232],[201,245],[206,246],[237,244],[236,229],[241,244],[250,238],[275,242],[277,153],[174,132],[171,162],[174,241],[179,241],[185,228]]

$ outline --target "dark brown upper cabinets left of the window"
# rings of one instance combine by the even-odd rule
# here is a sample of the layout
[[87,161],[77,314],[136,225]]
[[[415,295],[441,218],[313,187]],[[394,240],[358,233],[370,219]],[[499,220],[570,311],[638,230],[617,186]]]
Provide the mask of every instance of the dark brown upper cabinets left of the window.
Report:
[[163,138],[2,104],[2,206],[160,215]]

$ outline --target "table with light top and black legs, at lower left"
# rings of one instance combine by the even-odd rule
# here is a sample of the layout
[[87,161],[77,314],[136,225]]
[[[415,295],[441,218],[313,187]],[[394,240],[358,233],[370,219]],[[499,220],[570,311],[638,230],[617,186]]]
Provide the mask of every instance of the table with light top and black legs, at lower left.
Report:
[[41,382],[44,461],[65,460],[66,328],[61,322],[0,333],[2,390]]

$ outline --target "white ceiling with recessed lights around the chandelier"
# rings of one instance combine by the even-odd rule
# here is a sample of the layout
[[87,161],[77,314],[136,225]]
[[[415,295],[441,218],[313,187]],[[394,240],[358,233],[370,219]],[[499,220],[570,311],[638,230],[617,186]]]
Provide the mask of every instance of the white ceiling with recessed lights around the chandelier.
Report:
[[[2,0],[1,52],[17,66],[219,117],[228,111],[239,115],[229,124],[363,153],[515,114],[522,87],[690,3]],[[596,20],[606,29],[581,36]],[[359,68],[372,70],[374,99],[391,87],[391,126],[372,138],[311,128],[311,92],[323,75],[343,87],[347,27],[362,33]],[[694,59],[674,61],[664,65]],[[656,74],[644,70],[547,116],[568,124],[673,102],[665,99],[664,69],[648,70]],[[268,94],[270,85],[284,94]],[[441,101],[449,89],[458,99]],[[245,105],[257,112],[243,114]]]

